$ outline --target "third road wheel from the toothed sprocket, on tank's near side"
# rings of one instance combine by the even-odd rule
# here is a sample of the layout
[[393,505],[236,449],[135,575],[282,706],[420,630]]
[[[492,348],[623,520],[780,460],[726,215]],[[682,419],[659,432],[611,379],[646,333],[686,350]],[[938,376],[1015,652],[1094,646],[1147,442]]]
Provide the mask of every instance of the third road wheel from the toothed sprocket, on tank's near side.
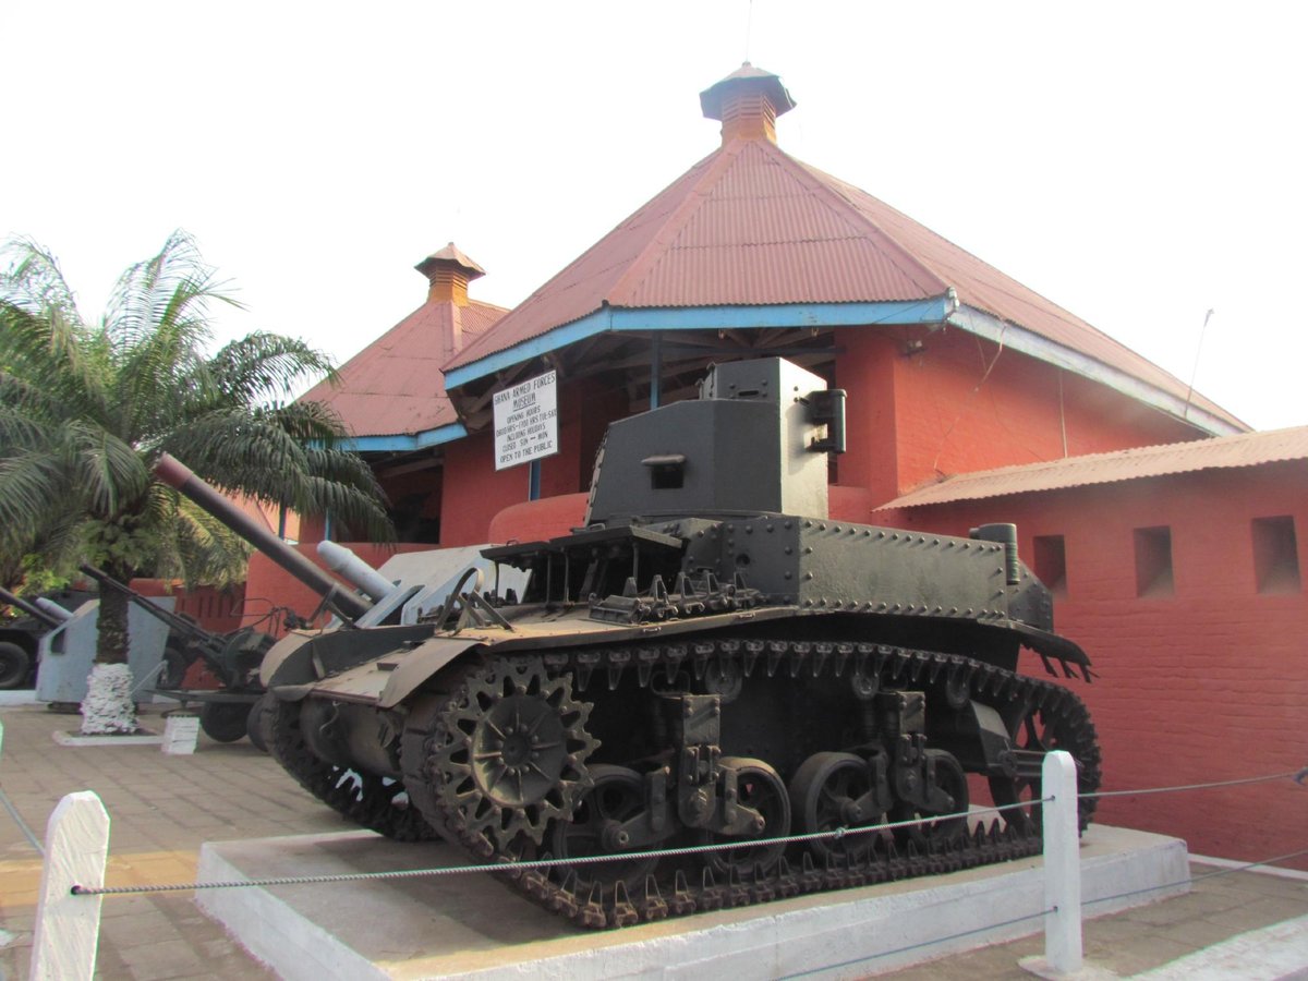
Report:
[[[797,832],[816,835],[837,828],[878,824],[882,814],[865,814],[857,802],[872,789],[867,764],[853,753],[814,753],[790,780],[790,810]],[[808,842],[818,855],[861,859],[872,846],[872,835],[815,838]]]

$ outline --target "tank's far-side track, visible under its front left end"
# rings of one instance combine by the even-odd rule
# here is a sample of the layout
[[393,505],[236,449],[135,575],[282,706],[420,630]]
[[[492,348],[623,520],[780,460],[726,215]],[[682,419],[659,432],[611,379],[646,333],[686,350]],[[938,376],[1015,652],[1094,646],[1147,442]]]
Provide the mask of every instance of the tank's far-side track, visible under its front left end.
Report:
[[398,800],[404,787],[381,777],[340,766],[310,751],[300,731],[300,705],[271,693],[259,700],[259,727],[268,752],[296,781],[345,820],[395,841],[430,841],[436,832],[412,799]]

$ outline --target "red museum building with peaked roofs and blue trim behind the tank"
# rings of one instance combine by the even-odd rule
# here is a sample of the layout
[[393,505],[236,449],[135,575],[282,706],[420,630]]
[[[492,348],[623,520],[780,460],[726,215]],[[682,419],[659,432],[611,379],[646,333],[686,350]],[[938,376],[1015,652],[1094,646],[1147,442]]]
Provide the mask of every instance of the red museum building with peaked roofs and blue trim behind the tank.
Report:
[[[849,392],[835,517],[964,532],[1019,522],[1025,557],[1062,590],[1059,628],[1100,674],[1080,691],[1105,789],[1301,765],[1308,437],[1287,434],[1299,449],[1277,456],[1277,434],[1243,436],[1074,314],[786,154],[777,119],[795,103],[777,76],[747,64],[701,105],[721,145],[519,306],[470,301],[481,269],[451,245],[419,266],[428,302],[348,362],[339,388],[310,394],[353,426],[402,531],[421,528],[404,536],[564,534],[610,421],[693,395],[710,362],[782,354]],[[496,471],[494,394],[548,370],[560,453],[535,472]],[[1090,466],[1117,476],[1040,483],[1080,472],[1087,454],[1108,454]],[[1131,471],[1142,458],[1164,462]],[[1006,467],[1018,470],[988,473]],[[985,479],[1015,483],[967,493]],[[267,569],[251,564],[251,595],[273,587]],[[1308,790],[1248,793],[1103,812],[1196,852],[1265,858],[1278,825],[1305,827]]]

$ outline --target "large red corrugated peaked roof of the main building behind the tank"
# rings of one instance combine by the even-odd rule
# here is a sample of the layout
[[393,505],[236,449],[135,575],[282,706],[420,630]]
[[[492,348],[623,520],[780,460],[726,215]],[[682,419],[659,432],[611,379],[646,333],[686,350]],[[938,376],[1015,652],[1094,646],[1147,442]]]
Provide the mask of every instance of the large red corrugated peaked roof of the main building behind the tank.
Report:
[[[965,307],[1192,398],[1184,382],[1057,303],[768,139],[734,139],[705,157],[445,368],[471,365],[606,305],[914,301],[950,288]],[[1245,428],[1198,395],[1192,402]]]

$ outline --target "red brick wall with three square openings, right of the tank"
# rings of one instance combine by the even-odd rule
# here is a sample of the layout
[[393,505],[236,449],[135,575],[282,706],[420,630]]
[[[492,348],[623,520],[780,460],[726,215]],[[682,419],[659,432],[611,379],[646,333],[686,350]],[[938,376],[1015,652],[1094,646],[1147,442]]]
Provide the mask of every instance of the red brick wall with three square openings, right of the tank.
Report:
[[[1260,591],[1260,565],[1266,570],[1269,561],[1256,555],[1254,521],[1269,518],[1292,522],[1298,582],[1282,574]],[[1067,684],[1095,719],[1105,790],[1237,780],[1308,763],[1308,463],[882,511],[878,519],[948,534],[1015,521],[1028,564],[1040,557],[1037,536],[1062,536],[1057,629],[1093,662],[1092,684]],[[1269,527],[1284,523],[1264,523],[1260,532]],[[1169,531],[1172,589],[1164,582],[1142,596],[1137,531],[1156,528]],[[1042,671],[1035,658],[1023,670]],[[1112,798],[1100,803],[1099,820],[1177,835],[1201,854],[1265,859],[1304,846],[1308,789],[1282,780]],[[1287,865],[1308,869],[1308,859]]]

